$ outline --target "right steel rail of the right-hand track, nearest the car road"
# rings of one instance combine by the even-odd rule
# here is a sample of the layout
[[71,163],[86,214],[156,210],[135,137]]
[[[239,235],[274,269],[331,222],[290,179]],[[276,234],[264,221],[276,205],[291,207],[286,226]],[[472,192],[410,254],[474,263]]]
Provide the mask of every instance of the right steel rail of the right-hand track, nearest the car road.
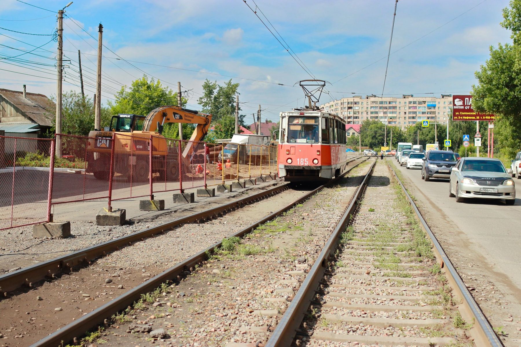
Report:
[[[386,161],[387,162],[387,161]],[[424,229],[424,232],[427,234],[427,236],[430,238],[432,245],[433,245],[433,251],[436,255],[436,258],[440,262],[440,266],[442,268],[442,271],[447,276],[447,279],[449,281],[449,284],[451,285],[452,289],[456,291],[458,296],[463,299],[463,303],[461,305],[458,305],[458,309],[460,309],[462,312],[463,318],[467,320],[467,322],[471,322],[474,319],[474,322],[477,324],[474,324],[472,328],[470,328],[470,333],[472,337],[474,338],[474,343],[477,346],[493,346],[493,347],[500,347],[503,344],[501,343],[500,339],[497,335],[495,335],[494,330],[492,329],[492,326],[488,322],[487,318],[481,312],[481,309],[479,308],[479,305],[476,303],[472,295],[470,294],[469,290],[465,286],[465,283],[461,279],[460,275],[458,275],[456,268],[454,265],[452,265],[452,262],[450,261],[449,257],[445,254],[445,251],[441,247],[440,243],[438,242],[438,239],[436,236],[432,233],[432,230],[427,225],[427,222],[425,222],[424,217],[421,215],[420,211],[416,207],[416,204],[414,203],[413,199],[409,195],[407,189],[403,185],[401,179],[398,177],[394,169],[389,165],[387,162],[387,166],[389,170],[392,172],[394,177],[396,178],[396,181],[400,184],[402,187],[402,190],[407,197],[409,203],[411,204],[411,207],[413,208],[416,218],[421,223],[422,228]],[[462,307],[463,305],[463,307]]]

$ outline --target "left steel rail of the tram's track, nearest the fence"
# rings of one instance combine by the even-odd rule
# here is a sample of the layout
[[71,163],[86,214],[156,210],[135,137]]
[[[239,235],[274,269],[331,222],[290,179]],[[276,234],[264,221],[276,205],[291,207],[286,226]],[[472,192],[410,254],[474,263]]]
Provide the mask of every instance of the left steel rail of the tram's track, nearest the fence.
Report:
[[98,245],[83,248],[66,255],[58,256],[57,258],[24,267],[18,271],[0,276],[0,293],[3,293],[3,296],[7,297],[8,292],[10,291],[16,290],[22,286],[33,287],[34,283],[44,280],[45,278],[54,279],[56,275],[61,271],[64,271],[64,269],[68,268],[70,270],[70,268],[79,265],[82,262],[91,261],[100,256],[106,255],[108,252],[129,246],[132,244],[132,242],[141,241],[144,238],[163,233],[166,230],[180,226],[182,224],[211,219],[219,214],[240,208],[243,205],[278,194],[279,192],[287,189],[289,189],[289,184],[285,183],[280,186],[261,191],[258,194],[238,199],[209,210],[192,213],[175,221],[156,225],[154,227],[143,229],[130,235],[105,241],[99,243]]

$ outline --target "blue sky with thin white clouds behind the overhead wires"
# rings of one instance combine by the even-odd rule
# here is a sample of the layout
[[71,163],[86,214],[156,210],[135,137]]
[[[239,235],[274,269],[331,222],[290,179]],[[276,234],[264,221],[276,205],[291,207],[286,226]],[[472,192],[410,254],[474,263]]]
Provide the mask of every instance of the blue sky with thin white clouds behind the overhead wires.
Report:
[[[0,46],[0,87],[21,90],[21,85],[27,84],[28,92],[56,94],[55,42],[33,52],[40,56],[19,57],[29,62],[1,58],[24,53],[52,39],[5,29],[52,34],[56,14],[45,9],[57,11],[68,0],[25,1],[44,9],[16,0],[1,2],[0,28],[4,29],[0,34],[12,38],[0,35],[0,44],[4,45]],[[381,94],[393,0],[255,2],[312,74],[333,83],[327,87],[330,95],[322,96],[320,101],[351,93]],[[253,0],[246,3],[255,9]],[[475,83],[474,71],[488,57],[488,47],[511,41],[510,34],[499,25],[501,10],[507,5],[506,0],[400,0],[391,48],[391,52],[398,52],[390,57],[384,94],[468,92]],[[259,10],[257,14],[269,26]],[[66,15],[64,59],[70,58],[71,62],[65,69],[64,91],[79,90],[80,49],[85,93],[94,94],[97,42],[82,29],[97,38],[101,22],[104,44],[122,58],[139,61],[131,66],[115,60],[116,56],[104,48],[104,102],[114,98],[122,84],[129,85],[145,71],[172,88],[181,81],[183,91],[192,89],[189,107],[200,109],[197,98],[204,80],[224,83],[229,79],[181,70],[187,69],[244,78],[233,81],[241,84],[240,101],[245,102],[241,109],[245,114],[255,112],[261,104],[263,119],[277,120],[280,111],[303,105],[303,93],[293,84],[310,76],[242,0],[76,0],[66,9]],[[35,66],[35,62],[44,65]]]

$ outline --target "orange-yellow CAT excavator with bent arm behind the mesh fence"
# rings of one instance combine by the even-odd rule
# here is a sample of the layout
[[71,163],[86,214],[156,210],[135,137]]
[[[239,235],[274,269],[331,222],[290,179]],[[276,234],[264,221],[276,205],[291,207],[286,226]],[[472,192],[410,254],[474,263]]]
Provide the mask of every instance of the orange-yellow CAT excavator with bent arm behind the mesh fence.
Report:
[[[118,114],[117,128],[109,131],[91,131],[87,144],[87,169],[97,179],[107,180],[110,176],[110,155],[114,146],[114,174],[118,173],[133,181],[144,182],[149,177],[148,156],[152,143],[152,173],[159,179],[177,181],[179,179],[179,151],[177,142],[170,141],[161,133],[166,123],[197,124],[192,137],[181,153],[181,165],[189,165],[189,157],[194,152],[193,142],[202,141],[208,133],[212,114],[189,110],[178,106],[161,106],[152,110],[142,121],[142,116]],[[120,121],[119,118],[127,119]],[[114,119],[113,119],[114,120]],[[119,126],[119,124],[126,124]],[[111,122],[112,125],[112,122]],[[114,141],[113,141],[114,137]],[[152,141],[151,141],[152,139]]]

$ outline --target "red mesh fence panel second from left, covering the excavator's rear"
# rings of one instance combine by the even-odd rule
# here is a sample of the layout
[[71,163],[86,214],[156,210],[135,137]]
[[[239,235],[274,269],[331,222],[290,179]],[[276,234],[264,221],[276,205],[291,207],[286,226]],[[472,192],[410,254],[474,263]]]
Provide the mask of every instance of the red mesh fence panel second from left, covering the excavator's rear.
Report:
[[111,140],[56,134],[56,143],[52,203],[107,198]]

